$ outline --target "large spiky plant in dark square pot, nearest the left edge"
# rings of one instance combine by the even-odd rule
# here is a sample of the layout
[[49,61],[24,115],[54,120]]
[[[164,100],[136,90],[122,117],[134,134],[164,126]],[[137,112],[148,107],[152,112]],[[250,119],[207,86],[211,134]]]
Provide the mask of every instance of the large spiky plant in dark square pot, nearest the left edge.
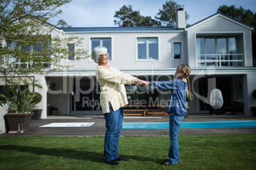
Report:
[[3,103],[8,105],[7,108],[4,107],[8,112],[8,114],[4,115],[8,122],[6,132],[17,133],[20,131],[23,133],[28,131],[33,115],[31,110],[36,105],[36,102],[33,100],[34,96],[29,94],[28,88],[22,90],[20,86],[6,86],[4,92],[6,95],[0,94],[0,97],[4,99],[0,103],[2,107],[4,107]]

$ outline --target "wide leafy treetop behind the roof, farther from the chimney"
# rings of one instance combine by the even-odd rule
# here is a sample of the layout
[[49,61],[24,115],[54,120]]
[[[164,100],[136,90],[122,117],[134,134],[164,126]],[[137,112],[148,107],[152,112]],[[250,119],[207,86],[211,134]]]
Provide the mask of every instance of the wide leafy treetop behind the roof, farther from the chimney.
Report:
[[157,20],[153,20],[151,16],[141,16],[139,11],[133,11],[132,6],[122,6],[119,11],[115,11],[115,25],[119,27],[134,27],[134,26],[155,26],[159,25]]

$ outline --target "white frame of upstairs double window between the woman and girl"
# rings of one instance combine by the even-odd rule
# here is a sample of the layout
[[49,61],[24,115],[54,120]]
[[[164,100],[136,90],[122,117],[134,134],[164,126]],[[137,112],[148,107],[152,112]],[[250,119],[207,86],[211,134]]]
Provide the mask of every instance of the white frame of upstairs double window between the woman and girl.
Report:
[[[158,52],[158,60],[155,60],[155,59],[150,59],[150,58],[148,58],[148,45],[146,46],[146,59],[139,59],[139,56],[138,56],[138,38],[146,38],[146,39],[150,39],[150,38],[156,38],[157,39],[157,52]],[[159,41],[160,41],[160,38],[159,38],[159,36],[152,36],[152,37],[150,37],[150,36],[136,36],[135,37],[135,41],[136,41],[136,46],[135,46],[135,53],[136,53],[136,59],[135,59],[135,61],[136,62],[145,62],[145,61],[150,61],[150,62],[152,62],[152,61],[154,61],[154,62],[159,62],[160,61],[160,50],[159,50]],[[147,40],[148,41],[148,40]],[[147,43],[148,44],[148,43]]]

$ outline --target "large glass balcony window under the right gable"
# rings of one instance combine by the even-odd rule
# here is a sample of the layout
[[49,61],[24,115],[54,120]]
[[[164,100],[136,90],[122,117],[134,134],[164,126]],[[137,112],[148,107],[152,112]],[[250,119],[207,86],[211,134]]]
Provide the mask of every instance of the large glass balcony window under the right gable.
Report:
[[197,36],[197,66],[243,67],[238,41],[237,36]]

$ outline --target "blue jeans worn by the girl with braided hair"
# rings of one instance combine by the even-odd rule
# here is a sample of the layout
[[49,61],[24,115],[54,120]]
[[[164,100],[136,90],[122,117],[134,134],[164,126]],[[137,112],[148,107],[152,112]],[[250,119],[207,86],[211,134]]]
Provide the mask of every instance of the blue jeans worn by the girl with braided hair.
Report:
[[180,155],[179,155],[179,143],[178,143],[178,131],[180,128],[180,122],[183,120],[184,117],[176,114],[175,112],[170,114],[169,119],[169,138],[171,141],[170,148],[169,148],[169,160],[167,162],[169,164],[177,164],[180,162]]

